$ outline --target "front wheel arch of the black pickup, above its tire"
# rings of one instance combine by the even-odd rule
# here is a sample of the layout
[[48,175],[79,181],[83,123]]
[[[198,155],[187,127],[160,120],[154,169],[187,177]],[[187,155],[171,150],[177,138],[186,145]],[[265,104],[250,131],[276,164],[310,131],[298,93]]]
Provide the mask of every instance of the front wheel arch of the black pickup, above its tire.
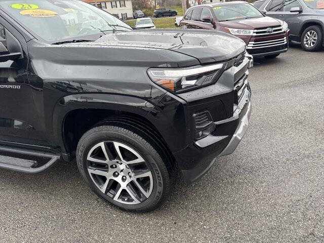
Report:
[[[87,102],[85,100],[88,100]],[[71,160],[80,137],[98,123],[113,116],[124,116],[145,123],[154,130],[171,153],[161,131],[153,125],[150,114],[154,104],[149,101],[123,95],[77,94],[63,98],[54,109],[54,136],[62,149],[63,158]]]

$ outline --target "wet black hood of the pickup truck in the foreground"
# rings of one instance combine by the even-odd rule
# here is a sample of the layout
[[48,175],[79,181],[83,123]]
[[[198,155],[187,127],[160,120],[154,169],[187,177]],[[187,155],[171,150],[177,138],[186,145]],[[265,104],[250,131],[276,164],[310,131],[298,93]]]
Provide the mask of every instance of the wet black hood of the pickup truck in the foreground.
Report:
[[246,48],[241,39],[224,32],[184,29],[148,29],[107,34],[96,42],[82,45],[170,50],[196,58],[200,63],[229,60]]

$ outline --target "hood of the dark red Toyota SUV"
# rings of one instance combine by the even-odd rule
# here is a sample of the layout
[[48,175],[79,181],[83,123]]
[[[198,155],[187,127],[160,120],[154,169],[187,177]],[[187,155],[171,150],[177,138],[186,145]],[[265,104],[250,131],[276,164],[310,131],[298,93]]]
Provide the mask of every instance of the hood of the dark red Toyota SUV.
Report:
[[280,22],[277,19],[271,17],[261,17],[252,19],[222,21],[219,22],[219,24],[223,27],[235,29],[256,29],[277,26],[280,25]]

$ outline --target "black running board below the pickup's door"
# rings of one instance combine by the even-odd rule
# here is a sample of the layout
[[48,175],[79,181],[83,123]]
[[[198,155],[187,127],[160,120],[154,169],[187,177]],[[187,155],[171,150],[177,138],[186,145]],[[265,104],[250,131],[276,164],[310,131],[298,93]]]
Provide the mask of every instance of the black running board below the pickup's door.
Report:
[[36,167],[37,161],[0,155],[0,168],[29,173],[29,174],[36,174],[45,171],[46,169],[51,167],[57,160],[60,159],[60,156],[58,154],[30,150],[30,149],[20,149],[20,148],[13,148],[7,146],[0,146],[0,153],[1,151],[23,154],[23,155],[31,155],[36,157],[45,157],[50,159],[45,165],[41,167]]

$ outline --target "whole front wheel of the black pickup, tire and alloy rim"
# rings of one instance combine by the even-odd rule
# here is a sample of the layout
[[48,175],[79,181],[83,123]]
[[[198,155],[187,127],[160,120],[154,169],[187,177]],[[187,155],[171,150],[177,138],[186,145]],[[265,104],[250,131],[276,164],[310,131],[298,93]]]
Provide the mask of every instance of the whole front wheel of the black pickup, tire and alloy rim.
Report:
[[90,188],[127,211],[157,208],[168,196],[175,174],[143,135],[136,128],[99,126],[77,145],[77,165]]

